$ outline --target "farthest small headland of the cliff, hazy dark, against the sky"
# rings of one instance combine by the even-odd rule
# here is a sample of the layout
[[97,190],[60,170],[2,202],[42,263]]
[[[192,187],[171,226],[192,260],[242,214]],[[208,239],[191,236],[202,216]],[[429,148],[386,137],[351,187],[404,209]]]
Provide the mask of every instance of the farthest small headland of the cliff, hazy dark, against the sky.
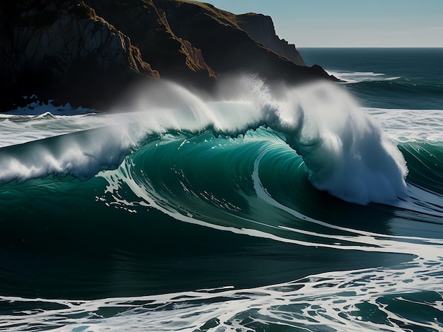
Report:
[[238,27],[248,32],[253,40],[260,42],[273,52],[285,57],[299,66],[306,66],[299,51],[294,44],[289,44],[284,39],[280,39],[275,33],[274,23],[270,16],[263,14],[247,13],[237,15]]

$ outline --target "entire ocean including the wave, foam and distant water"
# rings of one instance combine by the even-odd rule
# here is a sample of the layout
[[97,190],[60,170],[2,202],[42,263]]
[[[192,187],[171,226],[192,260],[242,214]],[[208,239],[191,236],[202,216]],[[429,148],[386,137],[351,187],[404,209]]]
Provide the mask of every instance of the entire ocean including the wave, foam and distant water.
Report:
[[0,331],[443,331],[443,49],[300,52],[0,114]]

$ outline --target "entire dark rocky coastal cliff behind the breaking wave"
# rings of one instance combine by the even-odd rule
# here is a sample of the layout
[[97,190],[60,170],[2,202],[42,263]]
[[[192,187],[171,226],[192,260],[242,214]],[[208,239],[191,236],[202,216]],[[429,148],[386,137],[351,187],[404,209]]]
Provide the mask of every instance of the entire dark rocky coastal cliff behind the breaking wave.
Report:
[[18,0],[0,4],[0,110],[28,102],[107,109],[134,83],[211,90],[219,76],[269,83],[331,77],[307,67],[272,19],[198,1]]

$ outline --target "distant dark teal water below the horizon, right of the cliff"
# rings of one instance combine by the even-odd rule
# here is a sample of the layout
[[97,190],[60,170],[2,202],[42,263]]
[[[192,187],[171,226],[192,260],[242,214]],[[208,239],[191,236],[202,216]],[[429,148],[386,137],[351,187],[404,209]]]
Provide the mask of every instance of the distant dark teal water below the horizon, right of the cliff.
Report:
[[443,48],[302,48],[308,66],[321,64],[350,82],[365,107],[443,109]]

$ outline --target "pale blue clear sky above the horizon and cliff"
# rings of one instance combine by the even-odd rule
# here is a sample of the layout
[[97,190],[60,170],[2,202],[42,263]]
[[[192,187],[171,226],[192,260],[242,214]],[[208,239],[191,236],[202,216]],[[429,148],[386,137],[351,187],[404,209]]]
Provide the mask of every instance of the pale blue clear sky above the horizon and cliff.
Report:
[[263,13],[297,47],[443,47],[443,0],[200,0]]

